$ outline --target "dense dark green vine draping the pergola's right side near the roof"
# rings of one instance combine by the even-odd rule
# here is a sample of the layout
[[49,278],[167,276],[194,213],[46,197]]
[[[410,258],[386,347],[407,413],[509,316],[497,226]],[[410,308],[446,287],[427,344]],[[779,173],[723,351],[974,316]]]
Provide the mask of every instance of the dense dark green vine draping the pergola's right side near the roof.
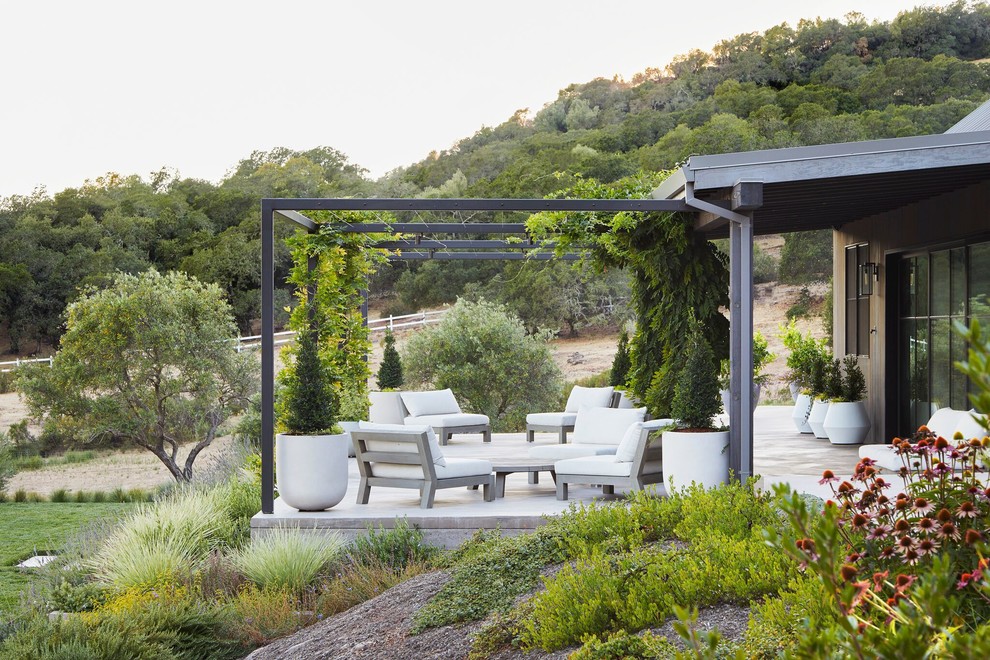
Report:
[[[555,197],[641,199],[669,172],[640,173],[602,184],[578,179]],[[693,231],[686,213],[560,213],[531,216],[530,234],[554,238],[557,250],[584,247],[602,270],[624,268],[632,277],[636,331],[630,342],[628,383],[650,414],[666,417],[689,334],[692,314],[716,358],[729,354],[729,270],[725,255]],[[716,363],[717,364],[717,363]]]

